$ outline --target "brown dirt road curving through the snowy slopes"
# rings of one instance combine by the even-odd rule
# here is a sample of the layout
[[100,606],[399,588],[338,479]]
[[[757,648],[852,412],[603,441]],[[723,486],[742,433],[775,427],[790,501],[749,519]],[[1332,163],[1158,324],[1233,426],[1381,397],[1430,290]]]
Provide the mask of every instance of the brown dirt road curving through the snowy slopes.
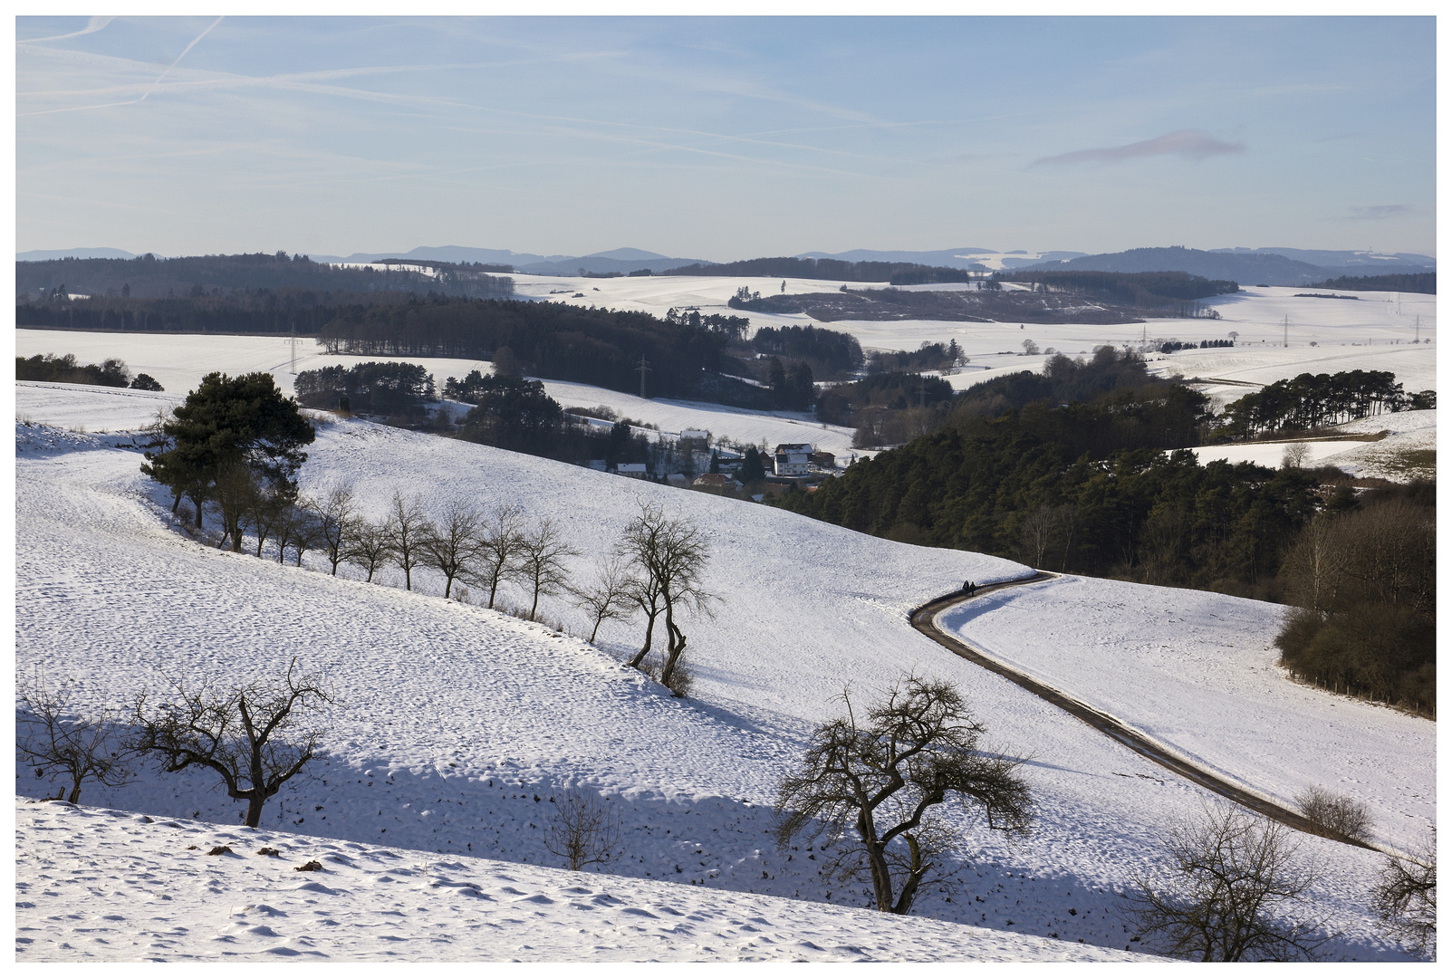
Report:
[[[996,585],[980,585],[974,592],[973,598],[977,598],[979,595],[992,593],[995,591],[1002,591],[1005,588],[1016,588],[1019,585],[1034,583],[1038,580],[1048,580],[1057,576],[1059,575],[1056,573],[1040,570],[1032,578],[1019,578],[1018,580],[1005,580],[1003,583],[996,583]],[[1032,679],[1031,676],[1027,676],[1018,672],[1016,669],[1011,669],[1009,666],[1003,665],[996,659],[990,659],[977,649],[973,649],[971,646],[964,643],[961,638],[950,636],[945,631],[941,631],[938,625],[934,624],[934,618],[937,618],[939,612],[964,601],[973,601],[973,598],[963,593],[961,591],[955,591],[951,595],[942,595],[941,598],[934,598],[928,604],[912,609],[912,614],[909,615],[912,627],[921,631],[922,634],[928,636],[934,641],[937,641],[944,649],[948,649],[954,654],[967,659],[976,666],[983,666],[990,672],[996,672],[1005,679],[1029,691],[1040,699],[1047,699],[1060,710],[1077,717],[1079,720],[1083,720],[1086,724],[1089,724],[1099,733],[1114,737],[1115,740],[1118,740],[1121,744],[1135,752],[1137,755],[1149,757],[1162,768],[1173,771],[1175,773],[1180,775],[1182,778],[1188,778],[1189,781],[1194,781],[1196,785],[1201,785],[1202,788],[1210,788],[1218,795],[1224,795],[1225,798],[1230,798],[1231,801],[1241,804],[1246,808],[1250,808],[1252,811],[1257,811],[1262,815],[1273,818],[1281,824],[1295,829],[1298,831],[1304,831],[1313,836],[1324,836],[1327,839],[1334,839],[1336,842],[1343,842],[1347,846],[1356,846],[1359,849],[1378,849],[1376,846],[1371,846],[1358,839],[1352,839],[1349,836],[1343,836],[1340,833],[1333,833],[1326,829],[1321,829],[1314,823],[1311,823],[1310,820],[1307,820],[1304,815],[1291,811],[1289,808],[1282,808],[1273,801],[1266,801],[1259,795],[1253,795],[1249,791],[1237,788],[1236,785],[1221,779],[1218,775],[1205,771],[1204,768],[1196,768],[1195,765],[1173,756],[1165,746],[1154,743],[1153,740],[1150,740],[1149,737],[1135,730],[1131,730],[1130,727],[1124,726],[1124,723],[1121,723],[1119,720],[1115,720],[1114,717],[1101,712],[1099,710],[1095,710],[1093,707],[1080,702],[1073,696],[1064,695],[1057,689],[1051,689],[1044,683],[1038,682],[1037,679]]]

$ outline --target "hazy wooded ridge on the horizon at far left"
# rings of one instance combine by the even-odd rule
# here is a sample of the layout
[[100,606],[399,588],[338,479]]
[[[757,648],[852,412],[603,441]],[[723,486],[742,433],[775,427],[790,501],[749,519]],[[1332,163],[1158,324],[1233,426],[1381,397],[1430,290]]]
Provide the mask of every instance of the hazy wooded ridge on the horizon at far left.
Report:
[[306,255],[192,255],[184,258],[55,258],[16,261],[15,289],[26,300],[61,295],[94,297],[202,297],[235,290],[311,289],[317,292],[441,292],[481,299],[507,297],[511,279],[495,266],[424,263],[431,274],[404,267],[379,270],[333,266]]

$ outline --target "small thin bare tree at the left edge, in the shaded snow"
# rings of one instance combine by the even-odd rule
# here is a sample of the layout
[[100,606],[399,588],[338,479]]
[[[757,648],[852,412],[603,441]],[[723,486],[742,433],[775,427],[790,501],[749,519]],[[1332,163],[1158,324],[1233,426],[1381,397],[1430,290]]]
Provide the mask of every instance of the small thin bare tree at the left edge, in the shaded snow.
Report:
[[71,804],[80,801],[81,784],[87,779],[110,788],[131,781],[135,772],[126,763],[131,752],[118,733],[116,711],[106,707],[83,710],[76,683],[62,682],[52,691],[44,673],[22,682],[19,695],[16,750],[36,765],[36,778],[44,778],[46,769],[51,781],[57,775],[70,778],[67,801]]

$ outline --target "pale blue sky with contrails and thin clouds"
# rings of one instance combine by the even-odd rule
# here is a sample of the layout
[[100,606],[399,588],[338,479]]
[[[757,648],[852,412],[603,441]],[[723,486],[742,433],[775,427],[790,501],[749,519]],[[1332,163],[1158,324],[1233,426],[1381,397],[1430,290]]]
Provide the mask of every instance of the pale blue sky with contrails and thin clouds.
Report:
[[20,251],[1436,248],[1430,17],[16,32]]

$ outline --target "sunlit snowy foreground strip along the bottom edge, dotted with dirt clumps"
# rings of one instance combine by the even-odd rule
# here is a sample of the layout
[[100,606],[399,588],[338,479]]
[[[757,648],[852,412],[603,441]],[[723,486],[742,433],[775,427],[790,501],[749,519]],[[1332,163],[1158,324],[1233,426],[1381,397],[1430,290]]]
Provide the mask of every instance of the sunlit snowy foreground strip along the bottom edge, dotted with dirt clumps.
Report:
[[[19,962],[1144,959],[803,900],[64,801],[20,801],[16,826]],[[209,856],[218,846],[232,852]],[[298,872],[308,860],[324,869]]]

